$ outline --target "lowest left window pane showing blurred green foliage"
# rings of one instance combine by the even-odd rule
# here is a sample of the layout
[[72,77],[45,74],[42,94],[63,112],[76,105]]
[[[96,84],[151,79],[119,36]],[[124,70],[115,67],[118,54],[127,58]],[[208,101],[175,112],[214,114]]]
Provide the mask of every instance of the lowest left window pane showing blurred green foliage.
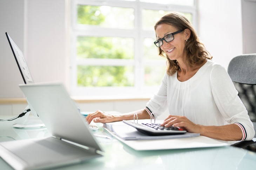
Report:
[[78,86],[134,86],[133,66],[78,65]]

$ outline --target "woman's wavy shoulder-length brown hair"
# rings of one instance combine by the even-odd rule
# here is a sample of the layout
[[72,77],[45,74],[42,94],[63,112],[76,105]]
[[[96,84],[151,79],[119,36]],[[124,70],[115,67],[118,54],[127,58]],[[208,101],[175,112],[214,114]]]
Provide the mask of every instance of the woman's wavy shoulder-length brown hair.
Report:
[[[159,21],[155,24],[155,30],[160,24],[169,24],[177,28],[177,30],[189,29],[190,37],[186,42],[184,48],[184,54],[187,55],[186,63],[189,66],[195,66],[197,64],[202,64],[205,59],[212,59],[213,57],[204,47],[204,44],[199,40],[199,37],[196,35],[196,31],[193,28],[192,24],[188,19],[181,13],[171,12],[164,15]],[[170,60],[169,57],[164,53],[164,51],[158,47],[158,52],[160,56],[166,57],[167,61],[167,74],[173,75],[177,70],[180,69],[176,60]]]

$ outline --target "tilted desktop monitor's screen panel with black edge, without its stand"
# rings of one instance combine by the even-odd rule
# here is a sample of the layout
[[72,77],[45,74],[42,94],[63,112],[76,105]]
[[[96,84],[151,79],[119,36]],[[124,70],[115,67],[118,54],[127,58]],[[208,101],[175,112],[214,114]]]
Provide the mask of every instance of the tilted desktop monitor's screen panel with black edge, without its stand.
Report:
[[13,55],[15,57],[15,60],[18,64],[21,76],[23,78],[23,81],[25,84],[29,84],[29,83],[33,83],[33,79],[31,77],[31,74],[29,72],[25,57],[23,55],[23,52],[21,51],[21,49],[18,47],[18,45],[13,41],[13,39],[7,34],[5,33],[7,36],[7,39],[9,41],[9,44],[11,46]]

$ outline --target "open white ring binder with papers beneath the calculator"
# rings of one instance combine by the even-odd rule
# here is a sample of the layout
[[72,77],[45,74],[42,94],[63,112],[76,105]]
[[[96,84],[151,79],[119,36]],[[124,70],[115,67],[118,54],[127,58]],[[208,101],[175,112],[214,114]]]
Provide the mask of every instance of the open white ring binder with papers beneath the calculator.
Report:
[[[139,120],[138,123],[150,123],[149,120]],[[163,120],[156,120],[161,123]],[[106,125],[105,125],[106,124]],[[103,128],[116,139],[135,150],[163,150],[184,148],[207,148],[228,146],[228,143],[200,136],[200,134],[186,133],[182,135],[148,136],[138,132],[134,127],[121,122],[105,123]],[[152,147],[154,146],[154,147]]]

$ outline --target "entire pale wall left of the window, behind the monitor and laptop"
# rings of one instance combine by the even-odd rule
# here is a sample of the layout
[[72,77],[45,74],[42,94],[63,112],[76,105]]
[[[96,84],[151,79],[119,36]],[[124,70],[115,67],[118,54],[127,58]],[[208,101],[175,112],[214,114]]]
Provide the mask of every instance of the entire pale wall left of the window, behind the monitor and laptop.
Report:
[[23,84],[5,32],[23,51],[34,82],[68,87],[68,0],[0,1],[0,98],[23,97]]

